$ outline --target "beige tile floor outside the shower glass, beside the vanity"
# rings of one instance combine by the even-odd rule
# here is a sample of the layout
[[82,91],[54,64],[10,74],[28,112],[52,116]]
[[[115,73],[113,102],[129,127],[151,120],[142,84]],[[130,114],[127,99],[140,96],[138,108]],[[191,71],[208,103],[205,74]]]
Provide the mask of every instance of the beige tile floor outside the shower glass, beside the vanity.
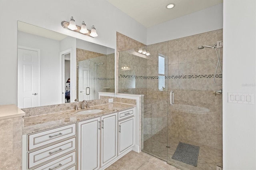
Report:
[[130,151],[105,170],[180,170],[145,152]]

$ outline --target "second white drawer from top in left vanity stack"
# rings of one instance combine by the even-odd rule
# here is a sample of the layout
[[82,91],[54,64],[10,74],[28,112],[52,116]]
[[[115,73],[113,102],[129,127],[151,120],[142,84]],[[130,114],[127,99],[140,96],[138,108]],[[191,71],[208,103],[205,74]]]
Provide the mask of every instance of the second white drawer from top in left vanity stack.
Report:
[[76,138],[64,140],[51,146],[28,153],[28,168],[76,149]]

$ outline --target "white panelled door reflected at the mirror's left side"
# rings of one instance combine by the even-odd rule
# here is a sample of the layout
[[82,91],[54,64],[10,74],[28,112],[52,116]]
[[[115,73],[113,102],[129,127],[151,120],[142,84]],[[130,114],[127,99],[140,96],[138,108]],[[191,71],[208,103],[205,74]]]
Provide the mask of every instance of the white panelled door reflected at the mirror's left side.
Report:
[[40,49],[18,47],[18,107],[40,106]]

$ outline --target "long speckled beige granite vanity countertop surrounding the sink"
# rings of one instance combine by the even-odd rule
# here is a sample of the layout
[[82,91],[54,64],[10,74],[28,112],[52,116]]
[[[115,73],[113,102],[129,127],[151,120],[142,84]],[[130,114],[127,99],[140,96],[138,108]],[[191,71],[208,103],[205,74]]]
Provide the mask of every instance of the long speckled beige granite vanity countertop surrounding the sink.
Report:
[[[75,123],[77,121],[82,121],[86,119],[92,119],[94,117],[108,115],[110,113],[114,113],[117,111],[132,109],[134,107],[135,105],[129,105],[124,103],[108,103],[104,105],[92,106],[88,109],[79,108],[78,111],[75,111],[74,109],[72,109],[68,111],[48,113],[44,115],[24,117],[22,134],[30,134],[30,133],[38,132],[41,130],[46,130],[49,128],[59,127],[59,126],[67,125],[70,123]],[[91,109],[101,109],[103,111],[100,113],[93,113],[93,114],[87,114],[87,115],[77,114],[80,111],[91,110]]]

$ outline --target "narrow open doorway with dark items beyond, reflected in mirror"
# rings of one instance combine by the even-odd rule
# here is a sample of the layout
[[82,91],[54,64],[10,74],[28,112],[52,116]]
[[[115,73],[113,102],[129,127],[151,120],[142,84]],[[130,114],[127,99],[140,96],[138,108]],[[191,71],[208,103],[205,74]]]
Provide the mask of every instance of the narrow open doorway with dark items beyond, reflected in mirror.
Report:
[[70,103],[70,52],[62,54],[62,102]]

